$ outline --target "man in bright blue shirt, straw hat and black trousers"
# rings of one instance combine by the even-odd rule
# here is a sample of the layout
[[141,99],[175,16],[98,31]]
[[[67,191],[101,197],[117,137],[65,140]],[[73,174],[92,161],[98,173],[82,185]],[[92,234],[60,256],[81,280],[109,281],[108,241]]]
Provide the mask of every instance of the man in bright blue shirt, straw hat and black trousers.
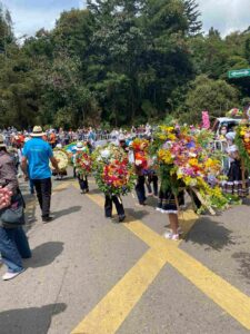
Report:
[[29,164],[29,177],[32,180],[38,196],[39,205],[42,212],[42,222],[52,220],[50,216],[51,202],[51,161],[56,171],[59,170],[58,161],[53,157],[50,145],[42,139],[44,132],[40,126],[36,126],[31,134],[31,140],[26,143],[23,148],[22,170],[24,178],[28,180],[27,164]]

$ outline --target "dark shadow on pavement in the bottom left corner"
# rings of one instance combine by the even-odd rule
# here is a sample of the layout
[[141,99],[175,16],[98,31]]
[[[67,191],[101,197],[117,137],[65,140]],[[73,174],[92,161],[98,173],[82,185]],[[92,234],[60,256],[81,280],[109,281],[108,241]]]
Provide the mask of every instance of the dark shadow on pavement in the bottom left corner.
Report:
[[9,310],[0,313],[1,334],[44,334],[54,315],[64,312],[67,305],[50,304],[42,307]]

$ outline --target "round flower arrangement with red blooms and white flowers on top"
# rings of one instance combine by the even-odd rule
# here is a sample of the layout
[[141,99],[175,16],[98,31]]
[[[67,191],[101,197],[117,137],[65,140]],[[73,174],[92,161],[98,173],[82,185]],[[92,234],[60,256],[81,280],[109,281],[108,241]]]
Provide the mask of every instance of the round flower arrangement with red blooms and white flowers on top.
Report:
[[127,195],[133,189],[134,174],[122,148],[109,144],[92,154],[97,185],[107,195]]

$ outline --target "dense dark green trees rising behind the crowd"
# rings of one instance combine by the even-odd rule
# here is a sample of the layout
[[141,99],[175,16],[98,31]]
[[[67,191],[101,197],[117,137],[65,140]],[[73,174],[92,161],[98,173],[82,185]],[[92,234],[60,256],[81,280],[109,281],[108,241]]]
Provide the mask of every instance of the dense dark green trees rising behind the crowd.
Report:
[[228,79],[250,66],[250,30],[203,35],[199,18],[196,0],[88,0],[20,46],[0,9],[1,125],[121,126],[190,110],[194,119],[209,106],[223,114],[250,96],[249,78]]

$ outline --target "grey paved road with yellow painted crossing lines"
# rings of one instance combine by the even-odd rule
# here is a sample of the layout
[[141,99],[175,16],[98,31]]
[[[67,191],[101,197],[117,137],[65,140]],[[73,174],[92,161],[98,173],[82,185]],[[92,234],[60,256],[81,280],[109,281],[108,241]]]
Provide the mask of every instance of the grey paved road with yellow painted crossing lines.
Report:
[[141,209],[126,197],[127,223],[114,224],[94,183],[88,196],[70,178],[53,189],[47,225],[28,197],[33,257],[0,282],[1,334],[250,332],[248,206],[199,219],[187,210],[173,243],[153,198]]

